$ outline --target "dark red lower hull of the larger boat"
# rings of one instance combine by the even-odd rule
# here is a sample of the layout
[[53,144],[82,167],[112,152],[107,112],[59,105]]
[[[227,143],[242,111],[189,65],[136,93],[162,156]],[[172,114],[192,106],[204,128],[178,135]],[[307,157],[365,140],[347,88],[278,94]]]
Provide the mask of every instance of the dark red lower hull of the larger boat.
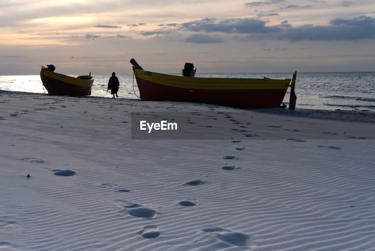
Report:
[[287,90],[185,89],[153,83],[136,77],[141,101],[177,101],[221,105],[241,109],[280,107]]

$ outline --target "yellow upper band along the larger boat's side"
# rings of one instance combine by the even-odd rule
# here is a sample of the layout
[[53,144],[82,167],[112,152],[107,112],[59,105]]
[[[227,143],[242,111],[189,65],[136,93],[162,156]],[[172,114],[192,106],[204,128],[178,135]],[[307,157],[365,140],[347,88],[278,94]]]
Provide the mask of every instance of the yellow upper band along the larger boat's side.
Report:
[[[205,90],[256,90],[256,89],[282,89],[287,90],[291,81],[271,78],[197,78],[180,77],[157,72],[148,72],[134,69],[135,77],[153,83],[162,84],[184,89],[205,89]],[[146,74],[145,74],[146,72]],[[148,75],[151,74],[151,75]]]

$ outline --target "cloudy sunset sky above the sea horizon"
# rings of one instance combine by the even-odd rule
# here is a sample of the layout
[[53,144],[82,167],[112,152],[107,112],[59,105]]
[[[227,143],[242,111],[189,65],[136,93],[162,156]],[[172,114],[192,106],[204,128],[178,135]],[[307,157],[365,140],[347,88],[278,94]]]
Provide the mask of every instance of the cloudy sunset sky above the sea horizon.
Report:
[[374,0],[7,0],[0,75],[375,71]]

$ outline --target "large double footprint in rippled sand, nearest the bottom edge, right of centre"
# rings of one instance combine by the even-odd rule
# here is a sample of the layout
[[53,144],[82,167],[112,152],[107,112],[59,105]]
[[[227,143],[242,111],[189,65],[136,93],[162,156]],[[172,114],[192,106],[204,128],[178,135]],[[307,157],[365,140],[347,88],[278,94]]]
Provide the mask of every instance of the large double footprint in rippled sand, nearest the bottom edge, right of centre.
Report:
[[215,237],[218,240],[229,245],[250,247],[254,244],[249,234],[233,233],[232,231],[221,227],[206,228],[202,231],[206,233],[215,233]]

